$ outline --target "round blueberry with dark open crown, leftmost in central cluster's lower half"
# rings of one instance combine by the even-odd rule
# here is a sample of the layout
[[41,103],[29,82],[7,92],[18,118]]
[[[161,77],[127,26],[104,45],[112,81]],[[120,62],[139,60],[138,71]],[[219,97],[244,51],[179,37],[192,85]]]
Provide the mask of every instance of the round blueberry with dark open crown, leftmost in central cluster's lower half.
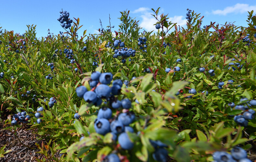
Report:
[[97,133],[105,135],[110,132],[110,123],[107,119],[96,119],[94,122],[94,129]]

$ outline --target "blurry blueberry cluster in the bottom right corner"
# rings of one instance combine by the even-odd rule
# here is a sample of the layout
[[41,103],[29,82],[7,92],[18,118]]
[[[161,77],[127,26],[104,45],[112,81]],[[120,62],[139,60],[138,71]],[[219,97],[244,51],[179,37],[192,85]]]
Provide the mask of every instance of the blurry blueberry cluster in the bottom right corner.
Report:
[[213,153],[213,159],[215,162],[252,162],[247,158],[246,151],[239,146],[235,146],[230,152],[231,154],[225,151],[216,151]]

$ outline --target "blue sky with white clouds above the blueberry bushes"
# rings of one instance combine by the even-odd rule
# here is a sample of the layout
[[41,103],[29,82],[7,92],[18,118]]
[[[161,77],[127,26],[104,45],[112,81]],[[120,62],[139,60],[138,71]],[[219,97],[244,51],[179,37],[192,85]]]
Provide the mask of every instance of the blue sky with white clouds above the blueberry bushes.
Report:
[[[109,14],[111,17],[111,26],[115,26],[114,30],[118,30],[121,16],[120,11],[130,10],[130,16],[136,20],[140,20],[139,24],[146,31],[155,30],[157,21],[150,15],[154,12],[151,8],[159,10],[159,15],[169,14],[169,20],[178,23],[180,26],[186,24],[187,8],[201,13],[204,16],[202,26],[216,22],[224,24],[227,22],[235,22],[237,26],[247,27],[248,12],[254,10],[256,13],[256,3],[253,1],[238,0],[215,0],[215,1],[157,1],[157,0],[130,0],[130,1],[55,1],[55,0],[12,0],[1,1],[0,9],[0,27],[8,31],[14,30],[15,33],[24,33],[27,30],[26,25],[35,24],[37,37],[47,36],[48,29],[51,33],[59,34],[59,31],[65,31],[57,18],[60,16],[61,9],[66,10],[70,14],[70,18],[80,18],[80,33],[87,29],[88,33],[99,33],[96,31],[100,28],[99,19],[101,19],[103,28],[109,26]],[[254,15],[255,15],[254,13]],[[73,19],[74,20],[74,19]],[[111,29],[113,31],[113,29]],[[78,31],[79,32],[79,31]]]

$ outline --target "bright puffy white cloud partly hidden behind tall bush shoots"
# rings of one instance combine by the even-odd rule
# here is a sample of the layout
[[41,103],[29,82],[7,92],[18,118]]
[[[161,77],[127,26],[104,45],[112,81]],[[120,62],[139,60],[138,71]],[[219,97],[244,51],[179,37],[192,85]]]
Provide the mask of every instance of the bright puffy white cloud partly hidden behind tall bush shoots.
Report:
[[[142,27],[143,29],[145,29],[146,31],[157,31],[156,27],[154,24],[156,24],[157,19],[155,17],[153,17],[151,14],[155,15],[155,13],[152,12],[148,12],[147,10],[143,9],[144,7],[138,8],[136,9],[136,13],[140,12],[141,14],[141,18],[139,21],[139,25],[140,27]],[[135,13],[134,11],[134,13]],[[160,10],[158,12],[158,19],[160,19],[160,13],[163,13],[163,10]],[[169,15],[168,15],[169,16]],[[172,23],[177,23],[177,26],[180,25],[186,25],[186,19],[184,16],[173,16],[173,17],[169,17],[168,21],[171,21]]]

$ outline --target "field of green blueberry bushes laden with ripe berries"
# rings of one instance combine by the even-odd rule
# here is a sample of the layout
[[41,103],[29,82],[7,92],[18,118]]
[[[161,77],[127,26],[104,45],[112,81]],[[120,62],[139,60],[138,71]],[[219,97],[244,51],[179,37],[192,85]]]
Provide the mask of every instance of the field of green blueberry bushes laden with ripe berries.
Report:
[[157,32],[127,10],[99,34],[64,10],[58,35],[0,30],[0,161],[255,161],[253,11],[182,28],[152,10]]

